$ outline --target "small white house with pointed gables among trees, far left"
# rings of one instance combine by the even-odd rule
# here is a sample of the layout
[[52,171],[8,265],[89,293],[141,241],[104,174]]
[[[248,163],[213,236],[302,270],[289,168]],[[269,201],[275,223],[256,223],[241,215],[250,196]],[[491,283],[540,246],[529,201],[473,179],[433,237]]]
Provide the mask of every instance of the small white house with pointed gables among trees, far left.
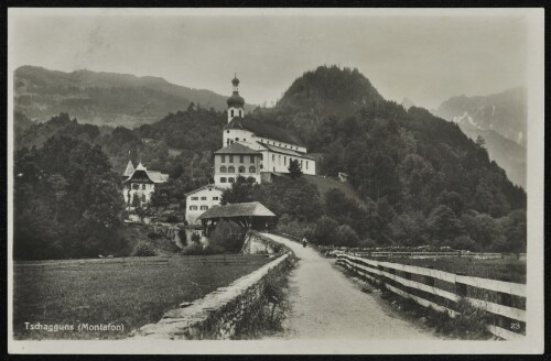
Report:
[[169,180],[169,175],[156,171],[148,171],[141,163],[134,168],[131,161],[128,162],[123,178],[122,196],[125,204],[133,207],[133,200],[137,198],[140,206],[151,201],[151,195],[155,192],[155,184]]

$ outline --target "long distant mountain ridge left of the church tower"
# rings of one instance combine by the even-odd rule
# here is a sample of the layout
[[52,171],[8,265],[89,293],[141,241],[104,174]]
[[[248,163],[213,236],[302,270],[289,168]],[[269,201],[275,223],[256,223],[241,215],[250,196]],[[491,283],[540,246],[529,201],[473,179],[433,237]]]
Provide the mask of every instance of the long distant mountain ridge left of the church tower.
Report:
[[68,112],[80,122],[136,128],[185,110],[191,102],[224,111],[226,99],[227,96],[174,85],[160,77],[89,70],[64,73],[35,66],[21,66],[14,72],[15,111],[37,121]]

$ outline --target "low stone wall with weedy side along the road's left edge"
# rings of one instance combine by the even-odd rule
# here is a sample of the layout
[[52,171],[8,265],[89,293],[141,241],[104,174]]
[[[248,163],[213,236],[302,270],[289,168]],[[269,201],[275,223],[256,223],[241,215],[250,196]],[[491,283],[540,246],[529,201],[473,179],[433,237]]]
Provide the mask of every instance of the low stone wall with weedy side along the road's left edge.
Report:
[[220,287],[184,308],[168,311],[156,324],[136,330],[133,338],[158,339],[230,339],[241,324],[255,317],[263,302],[263,291],[271,276],[279,275],[291,262],[284,253],[259,270]]

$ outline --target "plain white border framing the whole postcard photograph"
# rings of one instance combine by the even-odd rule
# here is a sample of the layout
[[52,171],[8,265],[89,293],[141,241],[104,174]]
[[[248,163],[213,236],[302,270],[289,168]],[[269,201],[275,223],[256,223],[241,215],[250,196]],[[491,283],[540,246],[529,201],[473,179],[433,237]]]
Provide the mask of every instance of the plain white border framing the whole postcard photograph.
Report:
[[[293,353],[542,353],[543,352],[543,9],[8,9],[8,29],[22,15],[144,17],[506,17],[529,19],[528,56],[528,283],[525,341],[15,341],[12,338],[13,284],[8,282],[8,352],[10,353],[140,353],[140,354],[293,354]],[[13,207],[13,33],[8,33],[8,210]],[[8,212],[8,225],[13,217]],[[8,280],[12,280],[12,228],[8,227]]]

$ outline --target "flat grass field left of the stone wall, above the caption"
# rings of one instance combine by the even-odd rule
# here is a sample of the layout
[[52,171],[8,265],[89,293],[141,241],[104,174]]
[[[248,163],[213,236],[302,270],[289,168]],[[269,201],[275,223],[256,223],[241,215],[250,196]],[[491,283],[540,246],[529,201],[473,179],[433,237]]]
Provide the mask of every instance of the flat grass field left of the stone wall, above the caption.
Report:
[[[125,267],[98,260],[85,261],[80,269],[69,266],[75,261],[15,262],[15,339],[125,338],[138,327],[156,322],[180,303],[202,298],[270,261],[259,255],[173,256],[168,265],[145,265],[145,259],[134,259],[134,265]],[[75,330],[29,330],[25,322],[73,325]],[[123,325],[125,329],[77,331],[79,324]]]

